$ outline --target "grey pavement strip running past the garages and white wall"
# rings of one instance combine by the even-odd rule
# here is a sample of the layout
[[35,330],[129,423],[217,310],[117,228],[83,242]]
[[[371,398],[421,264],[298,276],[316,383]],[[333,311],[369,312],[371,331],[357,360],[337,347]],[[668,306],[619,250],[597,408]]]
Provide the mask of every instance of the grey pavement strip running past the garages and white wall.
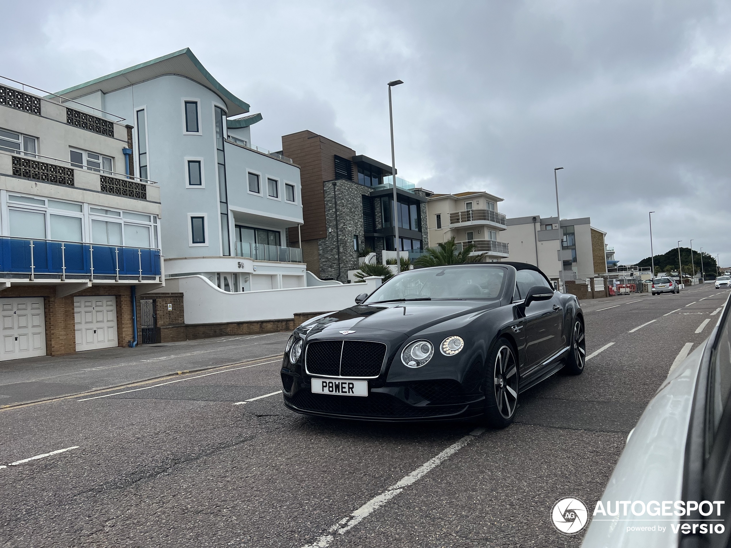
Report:
[[289,335],[217,337],[0,362],[0,408],[279,356]]

